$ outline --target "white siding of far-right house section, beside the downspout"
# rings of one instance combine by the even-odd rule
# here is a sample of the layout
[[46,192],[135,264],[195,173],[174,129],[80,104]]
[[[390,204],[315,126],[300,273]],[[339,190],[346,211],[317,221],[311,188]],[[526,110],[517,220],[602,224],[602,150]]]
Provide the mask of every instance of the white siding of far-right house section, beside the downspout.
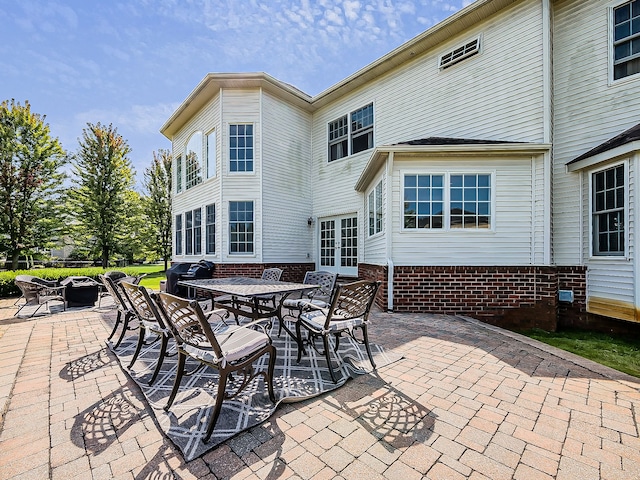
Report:
[[554,2],[553,250],[561,265],[583,261],[590,235],[576,213],[588,211],[588,191],[580,197],[580,174],[567,173],[565,164],[640,118],[640,76],[609,83],[608,9],[615,4]]

